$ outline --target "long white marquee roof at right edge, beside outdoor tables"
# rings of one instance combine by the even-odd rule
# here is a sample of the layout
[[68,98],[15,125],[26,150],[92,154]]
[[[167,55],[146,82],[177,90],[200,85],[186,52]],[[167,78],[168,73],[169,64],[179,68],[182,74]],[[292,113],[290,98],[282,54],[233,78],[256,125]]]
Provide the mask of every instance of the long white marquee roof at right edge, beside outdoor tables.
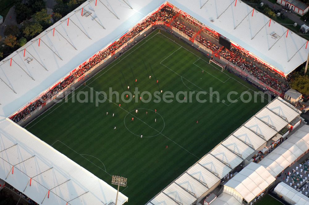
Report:
[[259,164],[276,177],[308,149],[309,125],[303,125],[262,159]]

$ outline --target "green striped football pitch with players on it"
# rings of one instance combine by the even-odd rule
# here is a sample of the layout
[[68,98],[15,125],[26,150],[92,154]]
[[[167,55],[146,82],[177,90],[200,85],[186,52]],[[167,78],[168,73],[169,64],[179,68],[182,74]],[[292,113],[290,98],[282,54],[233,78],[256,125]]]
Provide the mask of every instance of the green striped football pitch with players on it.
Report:
[[[261,102],[260,95],[257,103],[241,102],[248,98],[243,92],[253,95],[257,89],[208,62],[182,40],[154,31],[26,129],[105,182],[110,183],[111,175],[128,178],[120,190],[129,197],[127,204],[145,204],[268,103]],[[193,99],[187,103],[176,98],[155,102],[154,96],[145,102],[148,95],[142,100],[135,96],[132,102],[125,102],[124,95],[117,102],[113,95],[96,106],[91,94],[85,97],[92,92],[102,100],[100,91],[108,94],[109,88],[132,94],[135,88],[151,94],[163,90],[161,98],[168,91],[175,96],[195,93],[186,96]],[[211,88],[219,96],[211,94]],[[197,102],[198,91],[207,102]],[[231,96],[238,102],[228,102],[230,91],[238,92]],[[78,96],[88,102],[77,102]],[[178,98],[184,101],[184,94]]]

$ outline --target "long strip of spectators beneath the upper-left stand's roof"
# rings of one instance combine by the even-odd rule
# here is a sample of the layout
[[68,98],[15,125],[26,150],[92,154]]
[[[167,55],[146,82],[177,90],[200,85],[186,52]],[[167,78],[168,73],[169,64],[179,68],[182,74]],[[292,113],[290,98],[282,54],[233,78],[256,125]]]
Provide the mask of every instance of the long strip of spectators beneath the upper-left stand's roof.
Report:
[[38,107],[44,105],[47,100],[51,99],[54,95],[72,84],[76,79],[83,76],[88,70],[90,70],[99,62],[103,61],[106,57],[113,54],[118,48],[120,48],[122,45],[124,45],[134,36],[136,36],[139,32],[143,31],[146,27],[152,25],[152,23],[154,23],[155,21],[164,21],[165,23],[168,23],[175,14],[176,13],[174,10],[172,10],[168,6],[165,6],[155,14],[149,16],[142,23],[139,23],[131,31],[129,31],[126,36],[114,42],[106,50],[100,52],[97,56],[88,61],[85,65],[81,66],[81,68],[77,69],[72,75],[70,75],[60,84],[55,86],[52,90],[49,90],[47,93],[45,93],[40,99],[32,102],[32,104],[28,105],[28,107],[26,107],[23,111],[20,111],[18,114],[13,116],[11,120],[17,123],[26,116],[30,115]]

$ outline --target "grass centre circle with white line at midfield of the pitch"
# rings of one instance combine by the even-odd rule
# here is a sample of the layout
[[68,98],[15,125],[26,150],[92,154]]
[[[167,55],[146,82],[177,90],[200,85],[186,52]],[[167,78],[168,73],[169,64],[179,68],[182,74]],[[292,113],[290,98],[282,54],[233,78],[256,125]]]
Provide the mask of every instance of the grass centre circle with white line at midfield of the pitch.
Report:
[[[136,110],[138,110],[138,113],[135,112]],[[148,113],[146,114],[146,112]],[[132,120],[132,118],[134,119]],[[150,110],[146,108],[134,109],[128,112],[125,115],[124,123],[125,123],[125,128],[127,128],[129,132],[139,137],[141,135],[143,137],[158,136],[159,134],[162,133],[165,127],[165,122],[164,122],[163,117],[158,112],[155,112],[154,110]],[[149,129],[152,130],[152,132],[155,132],[155,134],[147,136],[145,133],[144,135],[142,133],[143,131],[140,131],[140,129],[143,129],[143,126],[144,127],[146,126],[148,130]]]

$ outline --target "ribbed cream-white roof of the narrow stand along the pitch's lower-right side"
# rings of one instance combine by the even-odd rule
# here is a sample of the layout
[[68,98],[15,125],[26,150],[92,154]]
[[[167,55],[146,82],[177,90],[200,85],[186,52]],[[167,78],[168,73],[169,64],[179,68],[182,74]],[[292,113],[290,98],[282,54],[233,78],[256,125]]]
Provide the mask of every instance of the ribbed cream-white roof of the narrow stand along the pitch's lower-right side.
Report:
[[259,118],[253,116],[249,119],[151,199],[147,205],[193,203],[299,114],[300,111],[283,99],[274,99],[256,114]]

